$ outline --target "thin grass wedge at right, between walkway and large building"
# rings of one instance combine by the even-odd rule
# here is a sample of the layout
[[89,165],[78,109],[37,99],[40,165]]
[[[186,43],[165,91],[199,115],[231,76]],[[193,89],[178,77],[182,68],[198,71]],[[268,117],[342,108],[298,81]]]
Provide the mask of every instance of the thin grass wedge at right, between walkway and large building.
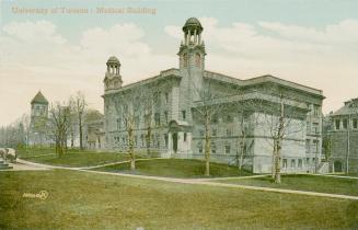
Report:
[[282,175],[281,184],[273,183],[270,176],[222,180],[217,182],[358,196],[358,180],[356,179],[336,179],[319,175]]

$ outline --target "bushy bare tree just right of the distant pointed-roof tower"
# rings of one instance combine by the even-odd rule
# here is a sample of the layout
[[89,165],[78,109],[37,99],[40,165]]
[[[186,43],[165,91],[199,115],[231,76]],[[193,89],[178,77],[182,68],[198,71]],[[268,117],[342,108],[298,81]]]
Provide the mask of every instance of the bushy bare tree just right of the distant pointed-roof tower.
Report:
[[67,137],[70,127],[71,111],[69,103],[55,103],[49,110],[49,129],[55,140],[55,150],[61,158],[67,147]]

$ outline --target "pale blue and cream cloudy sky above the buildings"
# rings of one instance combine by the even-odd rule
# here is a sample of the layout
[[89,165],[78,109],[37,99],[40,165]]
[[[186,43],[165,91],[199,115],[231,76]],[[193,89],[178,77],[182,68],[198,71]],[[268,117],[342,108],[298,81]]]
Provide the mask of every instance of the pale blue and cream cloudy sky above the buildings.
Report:
[[107,58],[120,60],[124,84],[177,68],[192,16],[207,70],[320,89],[327,114],[358,97],[357,11],[356,0],[0,0],[0,126],[30,113],[39,90],[50,103],[82,91],[103,111]]

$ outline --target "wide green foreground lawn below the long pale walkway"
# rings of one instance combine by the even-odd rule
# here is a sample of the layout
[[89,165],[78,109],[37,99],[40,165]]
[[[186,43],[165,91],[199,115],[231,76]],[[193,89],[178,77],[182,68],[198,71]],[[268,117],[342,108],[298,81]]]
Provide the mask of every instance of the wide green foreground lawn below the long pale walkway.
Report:
[[358,202],[345,199],[66,170],[1,172],[0,187],[0,229],[358,228]]

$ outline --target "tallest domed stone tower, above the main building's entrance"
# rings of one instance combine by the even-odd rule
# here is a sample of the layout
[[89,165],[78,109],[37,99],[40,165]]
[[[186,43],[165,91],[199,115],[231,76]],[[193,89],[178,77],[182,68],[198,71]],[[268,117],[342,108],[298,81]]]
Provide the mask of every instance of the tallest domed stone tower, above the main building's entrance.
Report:
[[203,72],[205,70],[205,45],[201,39],[203,26],[196,18],[190,18],[183,26],[184,39],[180,51],[180,70],[183,83],[190,101],[200,100],[203,88]]

